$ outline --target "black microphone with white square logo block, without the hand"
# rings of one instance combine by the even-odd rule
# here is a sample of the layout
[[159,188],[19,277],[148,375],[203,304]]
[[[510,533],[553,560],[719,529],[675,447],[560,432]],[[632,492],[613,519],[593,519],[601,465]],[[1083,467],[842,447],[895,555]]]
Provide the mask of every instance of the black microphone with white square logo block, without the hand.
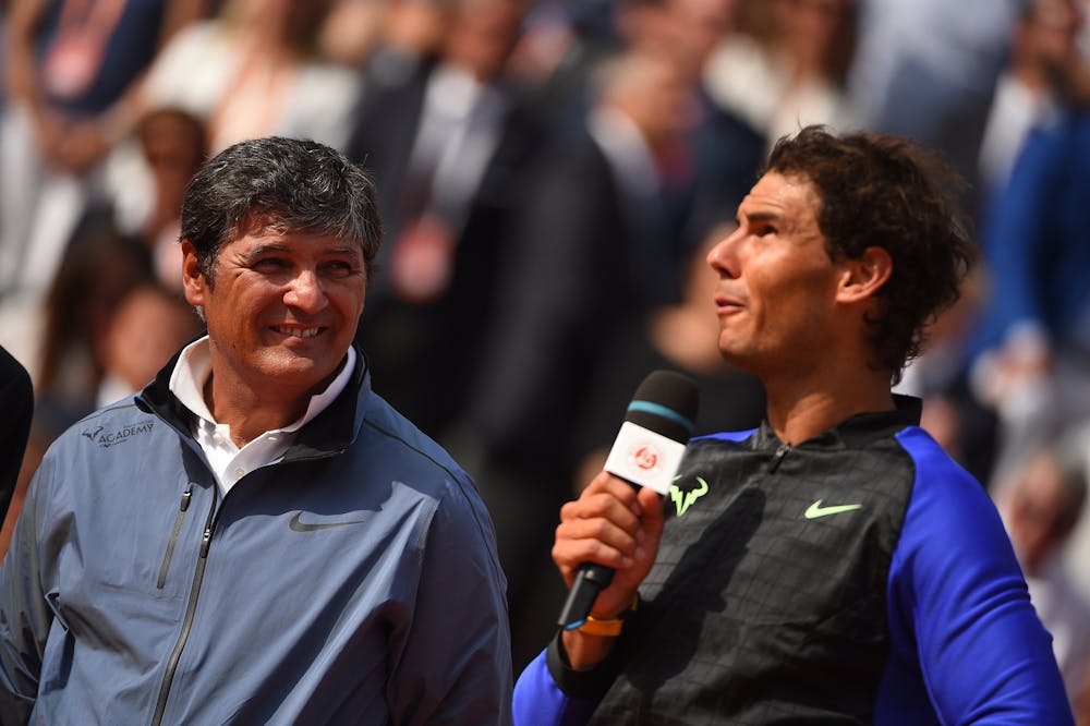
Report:
[[[653,371],[628,404],[605,470],[632,486],[650,486],[666,495],[692,434],[697,399],[697,384],[688,376]],[[613,576],[611,568],[592,562],[580,565],[557,625],[565,630],[582,626]]]

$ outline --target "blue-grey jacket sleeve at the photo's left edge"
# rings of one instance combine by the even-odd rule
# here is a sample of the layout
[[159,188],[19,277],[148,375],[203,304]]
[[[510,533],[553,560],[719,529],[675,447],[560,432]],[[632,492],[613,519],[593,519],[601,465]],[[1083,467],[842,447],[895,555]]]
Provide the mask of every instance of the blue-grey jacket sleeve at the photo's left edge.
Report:
[[0,724],[24,724],[38,693],[53,612],[46,600],[38,529],[52,474],[50,457],[31,482],[0,566]]

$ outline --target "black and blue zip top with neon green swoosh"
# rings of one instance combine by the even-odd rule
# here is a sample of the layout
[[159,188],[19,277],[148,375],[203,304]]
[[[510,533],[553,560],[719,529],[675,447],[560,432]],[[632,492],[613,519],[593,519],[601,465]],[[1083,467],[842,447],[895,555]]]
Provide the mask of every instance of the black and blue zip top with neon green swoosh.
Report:
[[614,654],[554,642],[517,723],[1071,723],[994,506],[918,416],[692,441]]

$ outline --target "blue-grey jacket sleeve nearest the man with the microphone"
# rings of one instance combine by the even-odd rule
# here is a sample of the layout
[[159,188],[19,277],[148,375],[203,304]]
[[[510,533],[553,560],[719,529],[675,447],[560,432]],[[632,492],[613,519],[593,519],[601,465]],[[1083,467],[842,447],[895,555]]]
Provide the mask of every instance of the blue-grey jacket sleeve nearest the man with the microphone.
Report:
[[471,483],[449,482],[423,536],[412,620],[387,687],[392,723],[510,724],[507,582]]

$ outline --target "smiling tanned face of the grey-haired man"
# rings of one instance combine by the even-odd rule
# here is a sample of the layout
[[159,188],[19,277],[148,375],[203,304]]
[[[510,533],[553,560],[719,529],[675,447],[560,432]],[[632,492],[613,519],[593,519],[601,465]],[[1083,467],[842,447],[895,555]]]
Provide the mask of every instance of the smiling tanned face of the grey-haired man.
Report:
[[332,379],[363,312],[359,243],[252,225],[219,251],[214,279],[182,245],[185,297],[204,311],[217,386],[282,399]]

